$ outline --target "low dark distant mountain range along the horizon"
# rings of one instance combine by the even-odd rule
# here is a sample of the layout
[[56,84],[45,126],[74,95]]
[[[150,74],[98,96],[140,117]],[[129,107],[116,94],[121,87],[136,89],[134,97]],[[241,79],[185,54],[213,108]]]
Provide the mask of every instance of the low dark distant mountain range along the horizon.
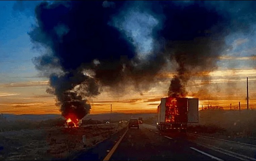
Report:
[[[133,113],[133,114],[126,114],[126,113],[103,113],[103,114],[89,114],[86,115],[83,119],[93,119],[93,120],[129,120],[131,118],[149,118],[154,117],[156,113]],[[22,115],[15,115],[15,114],[3,114],[4,117],[7,118],[8,121],[14,120],[31,120],[31,121],[42,121],[47,119],[55,119],[62,117],[58,114],[22,114]]]

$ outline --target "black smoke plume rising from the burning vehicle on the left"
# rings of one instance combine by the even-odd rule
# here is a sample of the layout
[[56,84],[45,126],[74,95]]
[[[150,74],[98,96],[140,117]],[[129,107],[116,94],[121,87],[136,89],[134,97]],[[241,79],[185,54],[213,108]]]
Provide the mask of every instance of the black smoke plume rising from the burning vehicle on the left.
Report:
[[141,82],[154,82],[152,76],[161,68],[158,62],[164,63],[161,54],[140,62],[131,38],[108,24],[123,3],[55,1],[36,7],[37,25],[29,35],[45,53],[33,63],[49,77],[47,92],[56,95],[64,117],[71,113],[81,119],[88,114],[87,98],[99,95],[102,86],[113,91],[125,91],[124,84],[138,92],[148,89]]

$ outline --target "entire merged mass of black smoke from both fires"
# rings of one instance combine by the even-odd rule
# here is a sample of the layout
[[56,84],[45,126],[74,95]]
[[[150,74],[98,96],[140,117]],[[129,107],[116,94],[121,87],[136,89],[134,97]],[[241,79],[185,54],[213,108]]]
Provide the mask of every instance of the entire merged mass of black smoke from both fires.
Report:
[[[37,25],[29,33],[46,53],[33,59],[49,76],[48,93],[55,94],[62,115],[81,119],[90,111],[88,97],[102,86],[138,92],[157,82],[155,75],[169,61],[177,63],[169,96],[186,96],[191,76],[216,69],[230,33],[231,17],[206,1],[55,1],[35,9]],[[146,4],[146,5],[145,5]],[[154,50],[146,60],[137,57],[131,37],[110,24],[126,7],[137,7],[159,21],[152,32]],[[129,13],[123,13],[125,15]],[[241,27],[242,28],[242,27]],[[233,30],[232,28],[230,28]]]

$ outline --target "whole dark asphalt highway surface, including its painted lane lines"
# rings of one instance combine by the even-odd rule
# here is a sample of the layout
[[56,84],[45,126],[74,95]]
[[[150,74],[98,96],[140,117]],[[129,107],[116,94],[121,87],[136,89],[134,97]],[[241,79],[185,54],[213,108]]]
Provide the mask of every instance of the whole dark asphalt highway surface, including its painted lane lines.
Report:
[[[191,142],[161,135],[147,125],[125,129],[73,160],[243,160]],[[245,159],[250,160],[250,159]]]

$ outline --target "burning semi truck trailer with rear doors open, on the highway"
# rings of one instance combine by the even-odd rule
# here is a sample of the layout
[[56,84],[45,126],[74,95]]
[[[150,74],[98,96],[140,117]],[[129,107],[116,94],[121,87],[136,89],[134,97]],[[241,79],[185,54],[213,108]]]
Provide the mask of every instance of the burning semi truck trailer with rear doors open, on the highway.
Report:
[[186,132],[188,123],[198,123],[198,98],[162,98],[157,108],[157,128],[160,131]]

